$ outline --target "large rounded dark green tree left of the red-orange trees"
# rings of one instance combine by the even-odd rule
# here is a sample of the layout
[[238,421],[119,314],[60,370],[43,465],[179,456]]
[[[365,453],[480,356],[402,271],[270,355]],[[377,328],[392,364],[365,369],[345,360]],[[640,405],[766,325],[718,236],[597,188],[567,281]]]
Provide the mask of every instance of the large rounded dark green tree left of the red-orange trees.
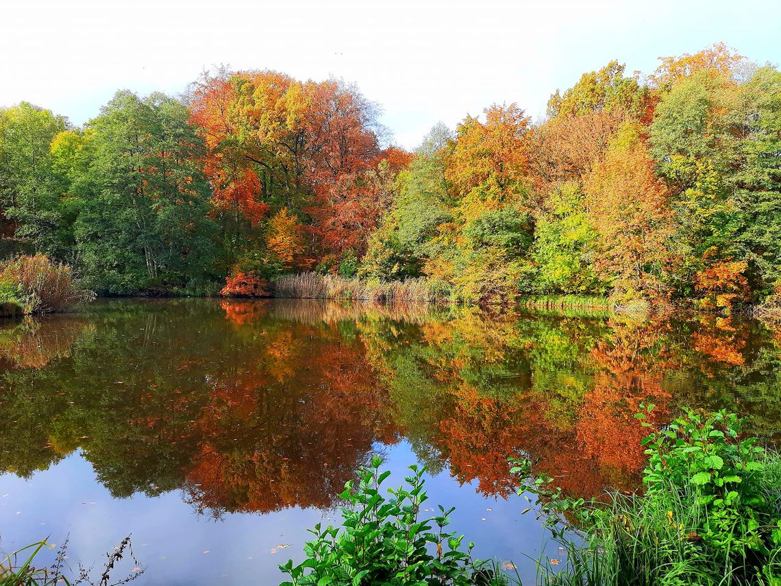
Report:
[[209,280],[215,261],[201,140],[173,98],[119,92],[85,131],[87,169],[73,191],[87,284],[127,294]]

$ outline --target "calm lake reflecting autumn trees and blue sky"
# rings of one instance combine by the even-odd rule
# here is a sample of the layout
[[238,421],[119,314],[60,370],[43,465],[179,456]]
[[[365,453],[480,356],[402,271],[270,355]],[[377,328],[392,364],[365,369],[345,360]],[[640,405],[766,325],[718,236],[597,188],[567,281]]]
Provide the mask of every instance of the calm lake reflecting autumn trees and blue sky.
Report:
[[[781,334],[715,316],[109,299],[0,323],[0,550],[69,538],[100,566],[132,534],[134,584],[277,584],[373,453],[478,557],[534,575],[544,542],[508,456],[569,495],[637,488],[653,402],[781,432]],[[45,552],[48,561],[55,550]],[[132,560],[122,569],[132,571]]]

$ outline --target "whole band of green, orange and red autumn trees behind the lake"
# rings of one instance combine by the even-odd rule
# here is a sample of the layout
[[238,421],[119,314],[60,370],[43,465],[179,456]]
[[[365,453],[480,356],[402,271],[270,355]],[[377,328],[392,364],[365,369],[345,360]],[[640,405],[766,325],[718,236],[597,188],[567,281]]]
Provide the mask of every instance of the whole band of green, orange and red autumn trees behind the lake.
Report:
[[427,277],[467,302],[781,296],[781,73],[726,45],[585,73],[532,123],[492,105],[414,153],[337,80],[218,70],[73,128],[0,110],[6,243],[87,286],[263,295],[280,274]]

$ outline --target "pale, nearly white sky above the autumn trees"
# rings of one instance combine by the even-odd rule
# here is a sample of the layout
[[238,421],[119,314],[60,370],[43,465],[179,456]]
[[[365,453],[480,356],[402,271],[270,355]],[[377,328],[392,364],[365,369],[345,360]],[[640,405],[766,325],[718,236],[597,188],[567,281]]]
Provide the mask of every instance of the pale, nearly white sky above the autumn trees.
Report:
[[0,0],[0,106],[81,125],[119,89],[178,95],[204,69],[340,77],[419,144],[492,103],[537,119],[611,59],[650,73],[716,41],[781,62],[781,0]]

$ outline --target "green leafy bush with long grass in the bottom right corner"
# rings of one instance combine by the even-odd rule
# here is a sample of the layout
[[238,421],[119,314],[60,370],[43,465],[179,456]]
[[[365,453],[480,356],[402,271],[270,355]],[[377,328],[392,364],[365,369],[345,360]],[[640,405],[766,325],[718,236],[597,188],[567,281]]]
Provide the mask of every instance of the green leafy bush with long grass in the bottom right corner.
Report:
[[742,423],[687,411],[644,440],[644,494],[609,502],[562,497],[516,466],[567,553],[558,573],[540,563],[543,584],[781,584],[781,457],[741,438]]

